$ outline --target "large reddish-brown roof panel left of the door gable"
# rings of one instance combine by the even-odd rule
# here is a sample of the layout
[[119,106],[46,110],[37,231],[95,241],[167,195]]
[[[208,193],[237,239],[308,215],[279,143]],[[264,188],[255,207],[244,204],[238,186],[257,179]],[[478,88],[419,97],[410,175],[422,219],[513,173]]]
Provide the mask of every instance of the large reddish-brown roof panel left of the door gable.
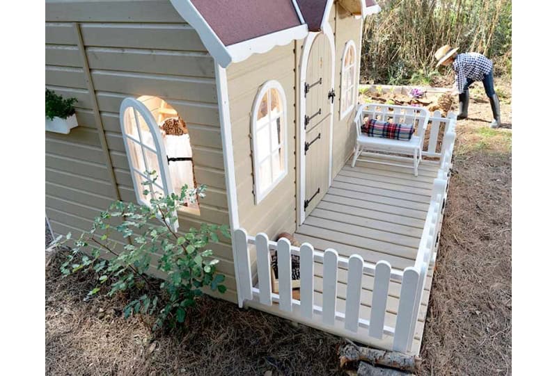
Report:
[[225,46],[299,26],[292,0],[191,0]]

